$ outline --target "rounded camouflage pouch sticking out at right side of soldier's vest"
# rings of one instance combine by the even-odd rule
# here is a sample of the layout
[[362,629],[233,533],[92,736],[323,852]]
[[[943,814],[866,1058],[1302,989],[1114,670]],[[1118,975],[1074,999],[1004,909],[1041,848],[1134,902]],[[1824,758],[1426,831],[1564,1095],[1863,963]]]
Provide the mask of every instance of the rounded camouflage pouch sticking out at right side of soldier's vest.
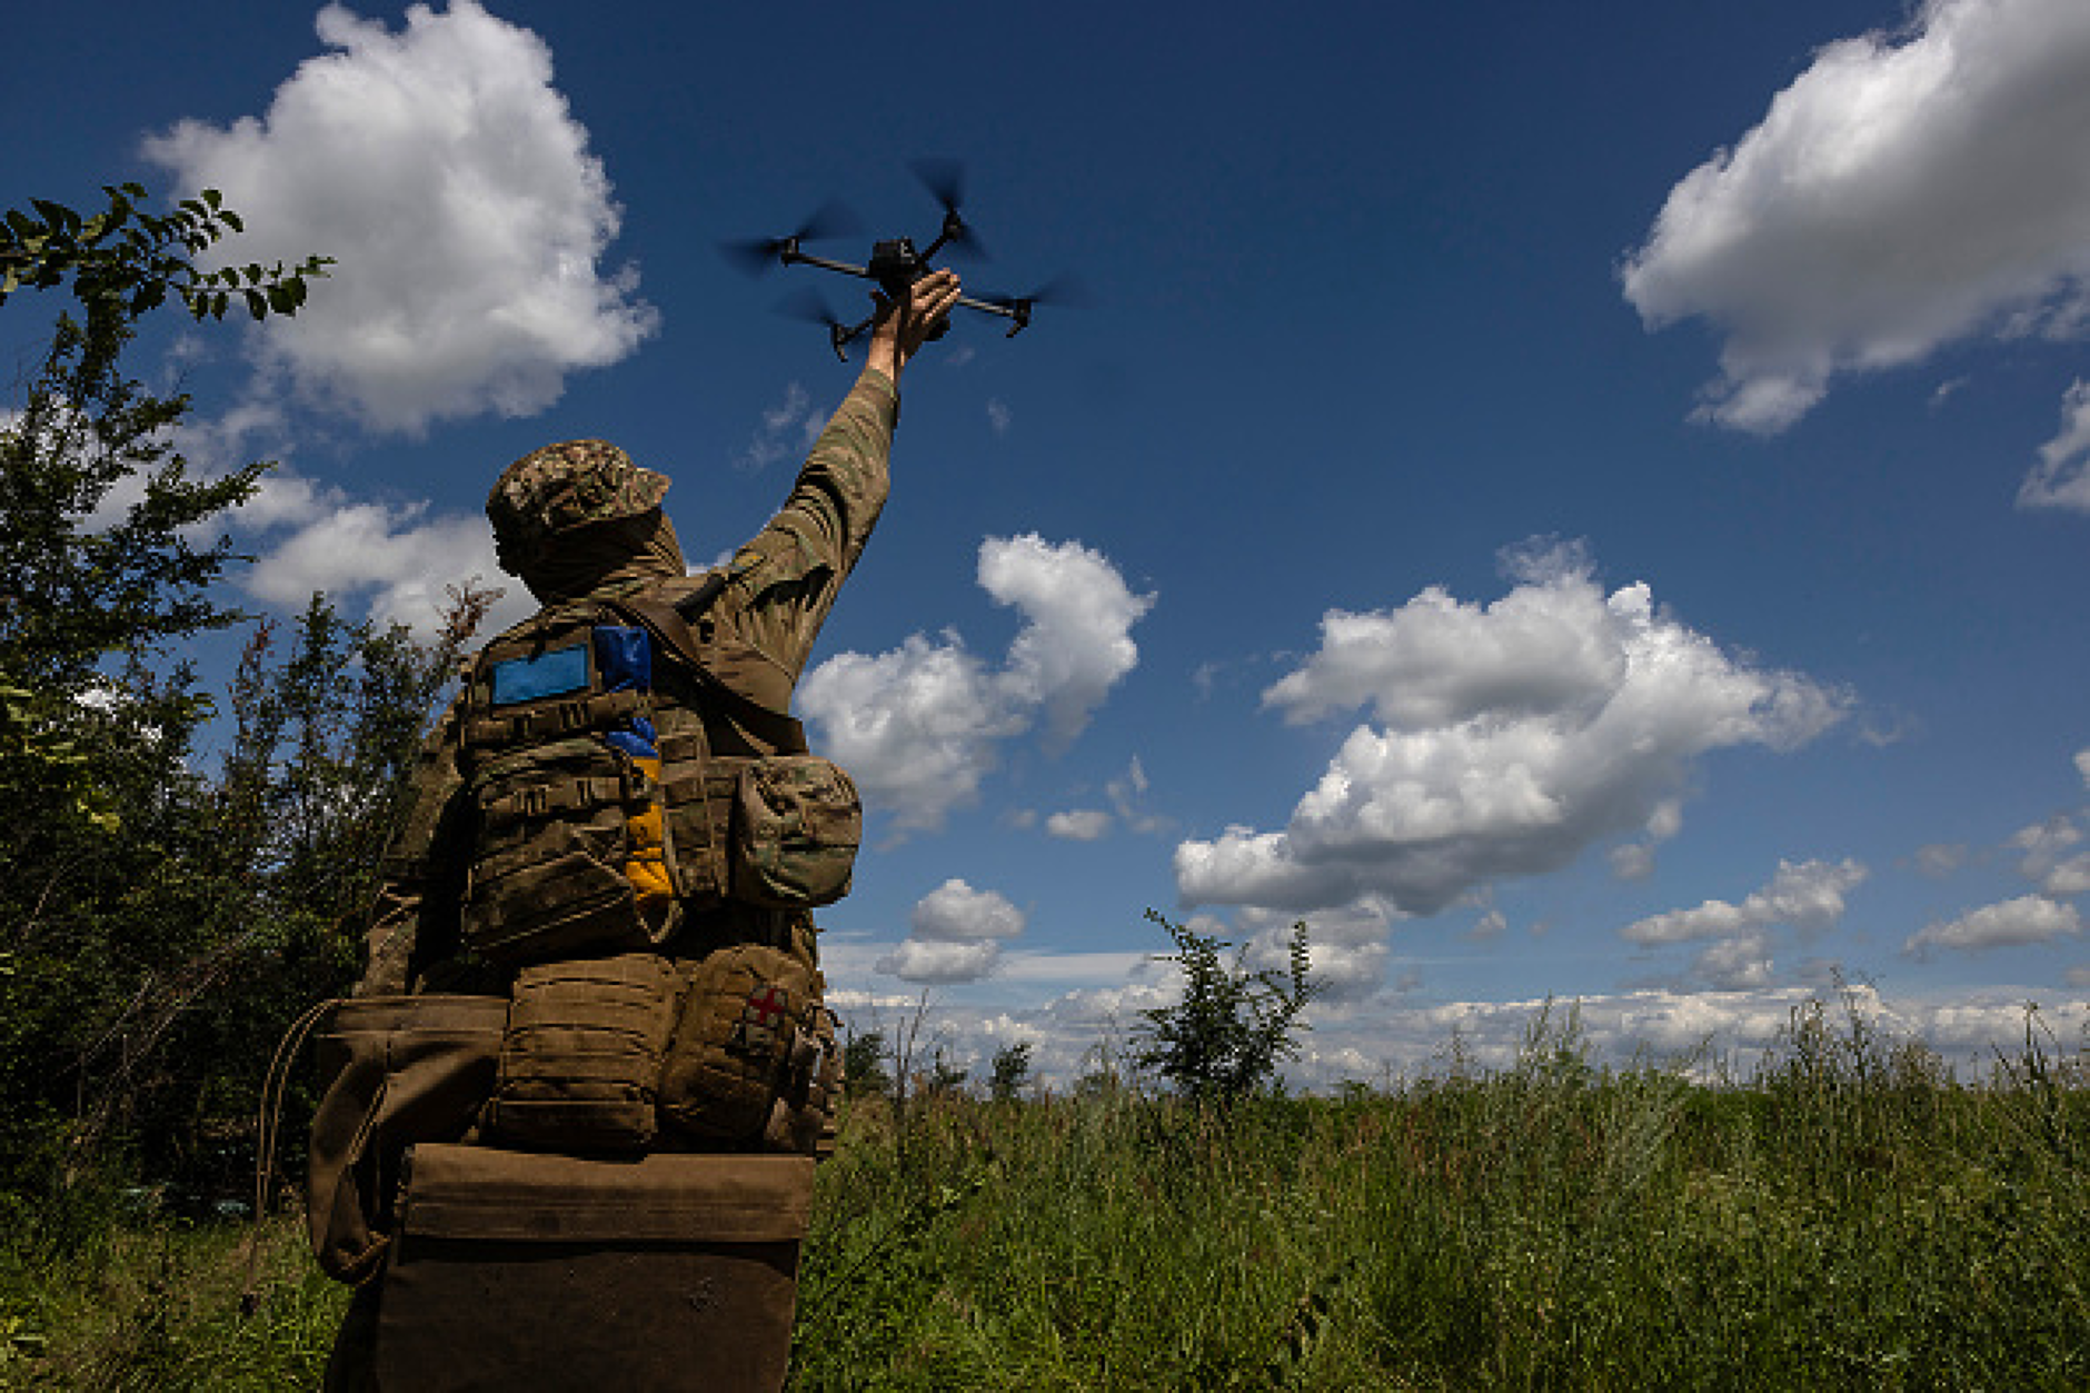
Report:
[[863,841],[857,784],[819,755],[769,755],[740,770],[734,805],[734,899],[815,910],[849,893]]

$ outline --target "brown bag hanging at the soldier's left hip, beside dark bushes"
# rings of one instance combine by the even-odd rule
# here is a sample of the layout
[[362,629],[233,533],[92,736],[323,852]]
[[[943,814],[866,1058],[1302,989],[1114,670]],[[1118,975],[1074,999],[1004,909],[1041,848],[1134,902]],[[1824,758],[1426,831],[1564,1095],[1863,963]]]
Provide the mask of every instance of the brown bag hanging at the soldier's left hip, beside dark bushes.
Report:
[[305,1173],[311,1255],[326,1276],[362,1282],[378,1270],[405,1148],[472,1132],[506,1023],[500,996],[357,996],[328,1008]]

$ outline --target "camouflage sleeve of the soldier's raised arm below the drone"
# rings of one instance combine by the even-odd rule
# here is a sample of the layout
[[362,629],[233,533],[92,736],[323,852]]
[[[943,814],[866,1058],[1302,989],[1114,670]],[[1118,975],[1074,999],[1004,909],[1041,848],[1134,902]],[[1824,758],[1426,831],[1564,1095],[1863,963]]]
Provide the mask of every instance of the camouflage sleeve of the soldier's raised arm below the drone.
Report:
[[734,554],[721,623],[792,680],[886,504],[897,418],[892,379],[865,370],[813,443],[790,498]]

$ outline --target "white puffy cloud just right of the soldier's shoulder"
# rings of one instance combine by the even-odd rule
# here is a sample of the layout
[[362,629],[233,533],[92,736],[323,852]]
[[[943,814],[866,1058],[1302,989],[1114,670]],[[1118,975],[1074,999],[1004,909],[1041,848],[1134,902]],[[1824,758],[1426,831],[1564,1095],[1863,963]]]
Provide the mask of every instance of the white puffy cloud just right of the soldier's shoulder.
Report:
[[901,832],[938,828],[974,803],[1001,743],[1041,720],[1045,745],[1066,747],[1139,663],[1131,627],[1154,596],[1133,594],[1099,552],[1037,535],[989,538],[978,579],[1022,615],[999,665],[955,634],[913,634],[888,653],[840,653],[798,684],[821,749],[849,766]]

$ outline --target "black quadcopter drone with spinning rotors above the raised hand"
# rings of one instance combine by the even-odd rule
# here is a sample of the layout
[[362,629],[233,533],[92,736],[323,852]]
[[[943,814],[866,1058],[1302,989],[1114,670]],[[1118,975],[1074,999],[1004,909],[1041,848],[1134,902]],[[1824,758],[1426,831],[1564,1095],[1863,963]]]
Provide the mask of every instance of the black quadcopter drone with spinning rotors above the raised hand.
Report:
[[[811,251],[805,251],[805,243],[844,236],[857,226],[855,218],[844,207],[828,203],[817,213],[807,218],[798,230],[788,232],[786,236],[725,243],[723,251],[732,259],[740,261],[750,274],[763,274],[771,266],[817,266],[819,270],[838,272],[842,276],[872,280],[888,299],[899,299],[907,293],[909,284],[936,270],[930,261],[940,251],[984,257],[986,251],[980,247],[978,234],[957,211],[963,192],[961,167],[953,161],[922,159],[915,161],[911,169],[930,195],[936,197],[936,203],[943,205],[943,226],[936,230],[936,238],[926,247],[918,249],[913,238],[907,236],[872,243],[872,257],[863,266],[851,266],[849,261],[813,255]],[[1066,299],[1070,299],[1070,293],[1060,282],[1053,282],[1028,295],[959,295],[957,303],[966,310],[997,314],[1009,320],[1007,337],[1014,339],[1030,326],[1030,310],[1035,305]],[[823,324],[828,328],[828,343],[834,347],[834,356],[842,362],[849,362],[849,345],[878,322],[878,316],[869,316],[861,324],[844,324],[828,307],[828,301],[811,289],[786,299],[777,305],[777,310],[790,314],[792,318]]]

